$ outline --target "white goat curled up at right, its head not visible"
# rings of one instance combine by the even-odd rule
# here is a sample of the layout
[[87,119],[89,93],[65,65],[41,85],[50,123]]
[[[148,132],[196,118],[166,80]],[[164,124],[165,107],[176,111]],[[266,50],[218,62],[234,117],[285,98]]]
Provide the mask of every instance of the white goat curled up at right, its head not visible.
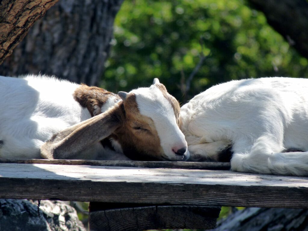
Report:
[[217,161],[231,145],[233,171],[308,175],[308,79],[213,86],[181,107],[180,129],[191,161]]

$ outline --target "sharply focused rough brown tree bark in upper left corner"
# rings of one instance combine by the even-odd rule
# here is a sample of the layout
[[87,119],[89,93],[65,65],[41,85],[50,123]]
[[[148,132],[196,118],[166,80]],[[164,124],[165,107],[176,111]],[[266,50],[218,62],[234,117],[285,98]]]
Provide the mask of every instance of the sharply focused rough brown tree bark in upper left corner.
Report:
[[33,23],[58,1],[0,1],[0,64],[26,36]]

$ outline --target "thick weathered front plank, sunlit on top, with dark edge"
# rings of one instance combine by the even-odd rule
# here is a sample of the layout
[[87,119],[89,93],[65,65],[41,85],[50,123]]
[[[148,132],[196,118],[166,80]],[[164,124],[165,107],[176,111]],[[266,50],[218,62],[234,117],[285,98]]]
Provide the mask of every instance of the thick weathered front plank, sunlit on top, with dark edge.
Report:
[[308,208],[308,178],[232,171],[0,164],[0,198]]

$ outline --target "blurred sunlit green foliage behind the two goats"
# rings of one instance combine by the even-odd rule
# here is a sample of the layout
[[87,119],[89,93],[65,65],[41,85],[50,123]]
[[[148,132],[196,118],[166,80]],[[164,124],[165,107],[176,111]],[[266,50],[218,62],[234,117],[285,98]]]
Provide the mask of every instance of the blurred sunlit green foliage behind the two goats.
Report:
[[200,60],[188,97],[233,79],[308,77],[308,61],[243,0],[124,1],[101,86],[129,91],[158,77],[183,100],[181,88]]

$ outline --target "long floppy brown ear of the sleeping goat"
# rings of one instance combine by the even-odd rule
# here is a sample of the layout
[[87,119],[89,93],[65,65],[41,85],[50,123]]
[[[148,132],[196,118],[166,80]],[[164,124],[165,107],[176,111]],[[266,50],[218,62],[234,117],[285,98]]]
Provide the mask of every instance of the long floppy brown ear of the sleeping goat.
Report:
[[45,159],[72,159],[85,148],[103,140],[122,125],[121,104],[55,134],[41,147]]

